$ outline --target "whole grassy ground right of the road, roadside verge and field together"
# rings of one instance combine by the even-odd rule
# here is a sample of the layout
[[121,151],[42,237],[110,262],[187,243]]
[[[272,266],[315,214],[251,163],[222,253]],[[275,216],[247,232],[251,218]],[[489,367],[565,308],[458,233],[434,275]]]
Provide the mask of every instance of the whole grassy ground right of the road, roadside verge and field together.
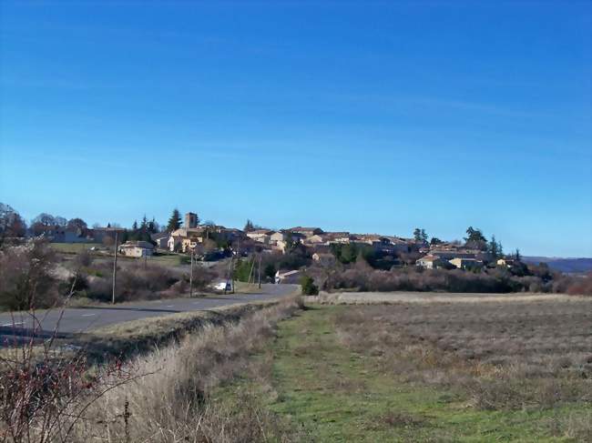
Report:
[[444,297],[107,327],[88,350],[138,378],[75,441],[592,441],[592,298]]

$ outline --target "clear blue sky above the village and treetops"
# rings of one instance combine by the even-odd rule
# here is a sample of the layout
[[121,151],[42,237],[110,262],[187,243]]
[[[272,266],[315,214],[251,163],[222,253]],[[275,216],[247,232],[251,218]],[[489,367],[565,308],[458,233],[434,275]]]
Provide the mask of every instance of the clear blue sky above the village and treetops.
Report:
[[592,256],[589,2],[10,2],[0,201]]

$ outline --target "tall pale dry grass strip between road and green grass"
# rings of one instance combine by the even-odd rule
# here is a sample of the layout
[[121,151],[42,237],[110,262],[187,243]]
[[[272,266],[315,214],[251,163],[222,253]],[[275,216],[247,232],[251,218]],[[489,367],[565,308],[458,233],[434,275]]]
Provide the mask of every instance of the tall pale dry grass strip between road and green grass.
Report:
[[[301,306],[295,299],[261,309],[236,323],[209,325],[178,344],[129,363],[146,377],[114,389],[79,428],[86,441],[233,442],[289,441],[281,419],[260,406],[257,393],[242,392],[234,404],[212,401],[213,388],[252,369],[275,324]],[[260,372],[260,367],[257,372]]]

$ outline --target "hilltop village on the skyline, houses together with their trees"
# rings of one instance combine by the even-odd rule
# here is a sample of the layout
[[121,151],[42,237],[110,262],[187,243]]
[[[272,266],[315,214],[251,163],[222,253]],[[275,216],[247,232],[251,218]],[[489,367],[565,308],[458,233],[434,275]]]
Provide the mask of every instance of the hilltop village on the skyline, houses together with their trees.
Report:
[[[7,206],[10,207],[10,206]],[[20,217],[20,216],[18,216]],[[269,229],[255,226],[250,220],[242,229],[223,227],[212,222],[201,223],[199,216],[188,212],[184,217],[175,209],[167,227],[143,218],[131,228],[117,225],[87,227],[74,218],[41,214],[30,227],[22,222],[23,237],[46,237],[54,243],[93,243],[113,247],[125,257],[150,257],[163,253],[188,255],[202,261],[217,261],[225,257],[250,257],[254,254],[286,255],[297,250],[321,267],[336,263],[352,263],[362,255],[373,267],[416,266],[425,269],[476,270],[486,266],[512,267],[519,252],[511,257],[503,254],[502,246],[492,237],[487,241],[479,229],[469,227],[464,242],[428,238],[424,229],[416,228],[413,237],[381,234],[324,231],[321,227],[288,227]],[[300,277],[294,269],[278,269],[276,280]]]

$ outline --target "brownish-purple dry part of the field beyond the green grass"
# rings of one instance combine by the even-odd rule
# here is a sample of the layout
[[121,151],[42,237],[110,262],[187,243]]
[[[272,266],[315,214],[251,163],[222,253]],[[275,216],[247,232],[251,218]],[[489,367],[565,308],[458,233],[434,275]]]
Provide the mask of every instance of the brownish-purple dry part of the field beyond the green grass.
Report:
[[479,409],[592,402],[592,300],[352,307],[342,342]]

